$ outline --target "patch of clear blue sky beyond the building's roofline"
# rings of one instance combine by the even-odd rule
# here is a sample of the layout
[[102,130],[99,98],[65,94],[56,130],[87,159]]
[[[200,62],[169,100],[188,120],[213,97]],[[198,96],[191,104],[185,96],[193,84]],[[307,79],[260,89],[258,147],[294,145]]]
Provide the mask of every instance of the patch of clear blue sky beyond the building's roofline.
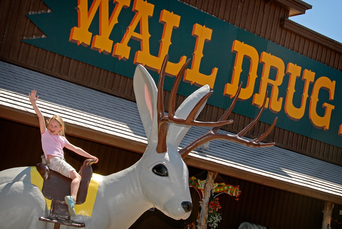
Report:
[[312,9],[289,19],[342,43],[342,0],[303,1]]

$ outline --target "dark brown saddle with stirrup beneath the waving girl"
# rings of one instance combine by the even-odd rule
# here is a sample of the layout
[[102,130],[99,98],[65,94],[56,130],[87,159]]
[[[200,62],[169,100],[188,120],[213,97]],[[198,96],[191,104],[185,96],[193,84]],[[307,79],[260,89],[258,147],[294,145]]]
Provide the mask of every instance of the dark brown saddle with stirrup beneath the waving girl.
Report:
[[[78,174],[81,175],[81,182],[77,192],[76,204],[82,204],[86,201],[90,179],[93,175],[91,167],[93,163],[95,163],[95,160],[87,159],[80,168]],[[44,179],[42,193],[45,198],[51,200],[50,215],[40,217],[39,220],[73,227],[85,227],[84,223],[70,219],[68,205],[64,201],[64,197],[70,195],[72,180],[54,170],[50,170],[46,164],[39,163],[36,168]]]

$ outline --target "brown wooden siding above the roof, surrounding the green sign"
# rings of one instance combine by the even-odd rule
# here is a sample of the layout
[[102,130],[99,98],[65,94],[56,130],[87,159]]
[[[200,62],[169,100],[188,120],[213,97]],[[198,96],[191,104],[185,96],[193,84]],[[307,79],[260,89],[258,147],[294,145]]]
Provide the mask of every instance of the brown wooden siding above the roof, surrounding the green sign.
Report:
[[[266,3],[265,0],[183,0],[182,2],[342,71],[341,53],[280,28],[280,19],[288,17],[289,11],[272,1]],[[0,59],[134,101],[132,79],[21,42],[23,39],[45,36],[26,15],[49,11],[50,9],[41,0],[1,1]],[[166,92],[166,101],[168,98],[169,92]],[[183,100],[184,97],[177,97],[177,104],[179,105]],[[216,121],[223,112],[222,109],[206,105],[199,119]],[[239,114],[231,114],[229,118],[235,120],[234,124],[223,129],[234,133],[251,122],[250,118]],[[246,136],[258,136],[268,127],[268,124],[259,122]],[[265,140],[320,160],[342,165],[341,148],[291,131],[276,127]]]

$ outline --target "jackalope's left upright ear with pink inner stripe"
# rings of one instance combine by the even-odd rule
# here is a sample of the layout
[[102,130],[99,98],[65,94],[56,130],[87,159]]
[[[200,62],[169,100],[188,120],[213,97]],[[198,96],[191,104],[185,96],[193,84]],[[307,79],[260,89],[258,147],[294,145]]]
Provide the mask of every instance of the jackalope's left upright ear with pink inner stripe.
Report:
[[140,64],[135,69],[133,88],[147,141],[158,141],[157,86],[151,75]]

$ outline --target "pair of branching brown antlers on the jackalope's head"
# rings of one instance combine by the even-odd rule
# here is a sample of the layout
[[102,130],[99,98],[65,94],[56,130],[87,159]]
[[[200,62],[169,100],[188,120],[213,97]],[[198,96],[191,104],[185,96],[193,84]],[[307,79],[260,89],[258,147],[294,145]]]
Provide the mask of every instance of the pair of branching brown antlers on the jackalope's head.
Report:
[[260,135],[259,137],[248,141],[246,139],[243,139],[242,136],[247,133],[249,129],[251,129],[255,123],[258,122],[263,109],[266,104],[266,99],[268,92],[266,91],[264,102],[262,104],[262,107],[259,110],[259,113],[257,117],[253,119],[253,121],[246,126],[243,130],[241,130],[239,133],[236,135],[229,135],[229,134],[223,134],[223,133],[218,133],[217,131],[220,129],[221,126],[233,123],[233,120],[226,120],[229,116],[229,114],[232,112],[233,107],[237,101],[237,98],[239,97],[240,91],[241,91],[241,86],[242,82],[239,85],[239,88],[234,96],[234,99],[229,105],[228,109],[225,111],[225,113],[222,115],[220,120],[218,122],[198,122],[195,120],[196,114],[198,113],[200,107],[207,101],[208,97],[213,93],[213,91],[208,92],[203,96],[200,101],[195,105],[193,110],[189,113],[188,117],[186,119],[184,118],[177,118],[175,116],[175,97],[177,93],[177,88],[180,84],[181,77],[184,74],[185,68],[190,62],[190,59],[185,62],[185,64],[182,66],[181,70],[179,71],[176,80],[173,83],[172,89],[171,89],[171,96],[170,96],[170,102],[169,102],[169,115],[165,115],[164,112],[164,104],[163,104],[163,85],[164,85],[164,78],[165,78],[165,69],[166,69],[166,64],[169,60],[169,55],[165,56],[165,59],[163,61],[160,75],[159,75],[159,82],[158,82],[158,95],[157,95],[157,111],[158,111],[158,145],[157,145],[157,152],[158,153],[164,153],[167,151],[166,147],[166,132],[167,132],[167,127],[168,123],[175,123],[175,124],[182,124],[182,125],[187,125],[187,126],[213,126],[211,130],[209,130],[205,135],[197,138],[195,141],[184,147],[183,149],[179,150],[178,152],[182,156],[182,158],[186,157],[189,152],[194,150],[196,147],[199,145],[202,145],[208,141],[211,140],[228,140],[228,141],[233,141],[240,143],[242,145],[246,145],[249,147],[270,147],[275,145],[275,143],[260,143],[261,140],[263,140],[274,128],[278,117],[276,117],[273,121],[273,124],[267,129],[265,133]]

